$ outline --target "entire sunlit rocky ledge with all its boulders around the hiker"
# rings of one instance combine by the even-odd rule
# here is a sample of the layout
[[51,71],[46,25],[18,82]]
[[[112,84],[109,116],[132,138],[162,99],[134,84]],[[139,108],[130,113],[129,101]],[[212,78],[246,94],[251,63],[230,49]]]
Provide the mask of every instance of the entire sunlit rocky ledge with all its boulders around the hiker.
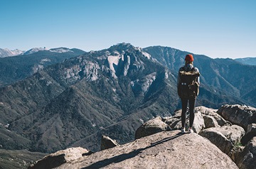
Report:
[[[102,136],[102,151],[58,151],[30,168],[256,168],[255,108],[223,105],[195,111],[195,133],[180,132],[179,110],[142,124],[131,143],[118,145]],[[50,166],[49,161],[59,161],[56,156],[61,163]]]

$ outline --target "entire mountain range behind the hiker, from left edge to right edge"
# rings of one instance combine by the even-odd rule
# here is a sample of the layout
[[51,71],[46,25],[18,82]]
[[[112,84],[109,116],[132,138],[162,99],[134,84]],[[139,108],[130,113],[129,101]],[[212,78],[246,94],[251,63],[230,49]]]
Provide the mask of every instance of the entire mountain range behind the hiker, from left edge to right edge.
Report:
[[[98,151],[102,133],[127,143],[144,121],[181,108],[176,77],[188,52],[129,43],[91,52],[63,50],[68,52],[41,50],[0,59],[1,148]],[[197,105],[255,107],[255,66],[206,55],[194,59],[201,72]]]

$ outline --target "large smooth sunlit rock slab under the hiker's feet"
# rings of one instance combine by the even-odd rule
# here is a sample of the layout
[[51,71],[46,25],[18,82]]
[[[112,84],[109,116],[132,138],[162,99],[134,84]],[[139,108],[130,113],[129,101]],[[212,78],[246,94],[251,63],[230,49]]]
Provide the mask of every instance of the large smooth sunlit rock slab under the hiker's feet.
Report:
[[70,161],[58,168],[238,168],[196,133],[164,131]]

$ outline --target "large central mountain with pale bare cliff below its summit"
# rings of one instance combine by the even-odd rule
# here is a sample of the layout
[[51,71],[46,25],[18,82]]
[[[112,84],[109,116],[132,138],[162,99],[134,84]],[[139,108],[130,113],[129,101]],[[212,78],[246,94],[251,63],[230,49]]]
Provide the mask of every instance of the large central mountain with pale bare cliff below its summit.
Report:
[[[124,50],[124,60],[118,54],[123,53],[122,50],[120,46],[113,46],[109,50],[86,53],[49,66],[14,86],[1,88],[5,114],[13,114],[2,119],[1,124],[12,121],[8,129],[28,138],[23,147],[33,144],[34,150],[44,152],[64,148],[56,145],[70,146],[96,131],[120,124],[117,121],[136,121],[132,130],[124,129],[128,134],[123,137],[124,141],[131,139],[131,132],[141,124],[138,118],[143,121],[176,109],[176,98],[164,97],[161,92],[165,89],[165,94],[171,95],[176,87],[172,85],[175,79],[170,72],[155,65],[132,45]],[[110,66],[112,60],[108,59],[116,56],[119,67]],[[114,72],[118,69],[124,71]],[[157,100],[159,97],[162,99]],[[22,100],[29,102],[20,104]],[[151,102],[154,104],[150,105]],[[166,102],[166,107],[162,107],[161,102]],[[156,113],[154,109],[161,111]]]

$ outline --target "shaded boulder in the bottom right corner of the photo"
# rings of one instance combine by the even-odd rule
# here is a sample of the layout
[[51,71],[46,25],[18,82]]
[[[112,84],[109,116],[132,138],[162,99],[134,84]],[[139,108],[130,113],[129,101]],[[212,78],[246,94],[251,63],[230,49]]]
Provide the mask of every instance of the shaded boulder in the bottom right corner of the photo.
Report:
[[244,151],[239,156],[238,167],[240,169],[256,168],[256,137],[247,143]]

